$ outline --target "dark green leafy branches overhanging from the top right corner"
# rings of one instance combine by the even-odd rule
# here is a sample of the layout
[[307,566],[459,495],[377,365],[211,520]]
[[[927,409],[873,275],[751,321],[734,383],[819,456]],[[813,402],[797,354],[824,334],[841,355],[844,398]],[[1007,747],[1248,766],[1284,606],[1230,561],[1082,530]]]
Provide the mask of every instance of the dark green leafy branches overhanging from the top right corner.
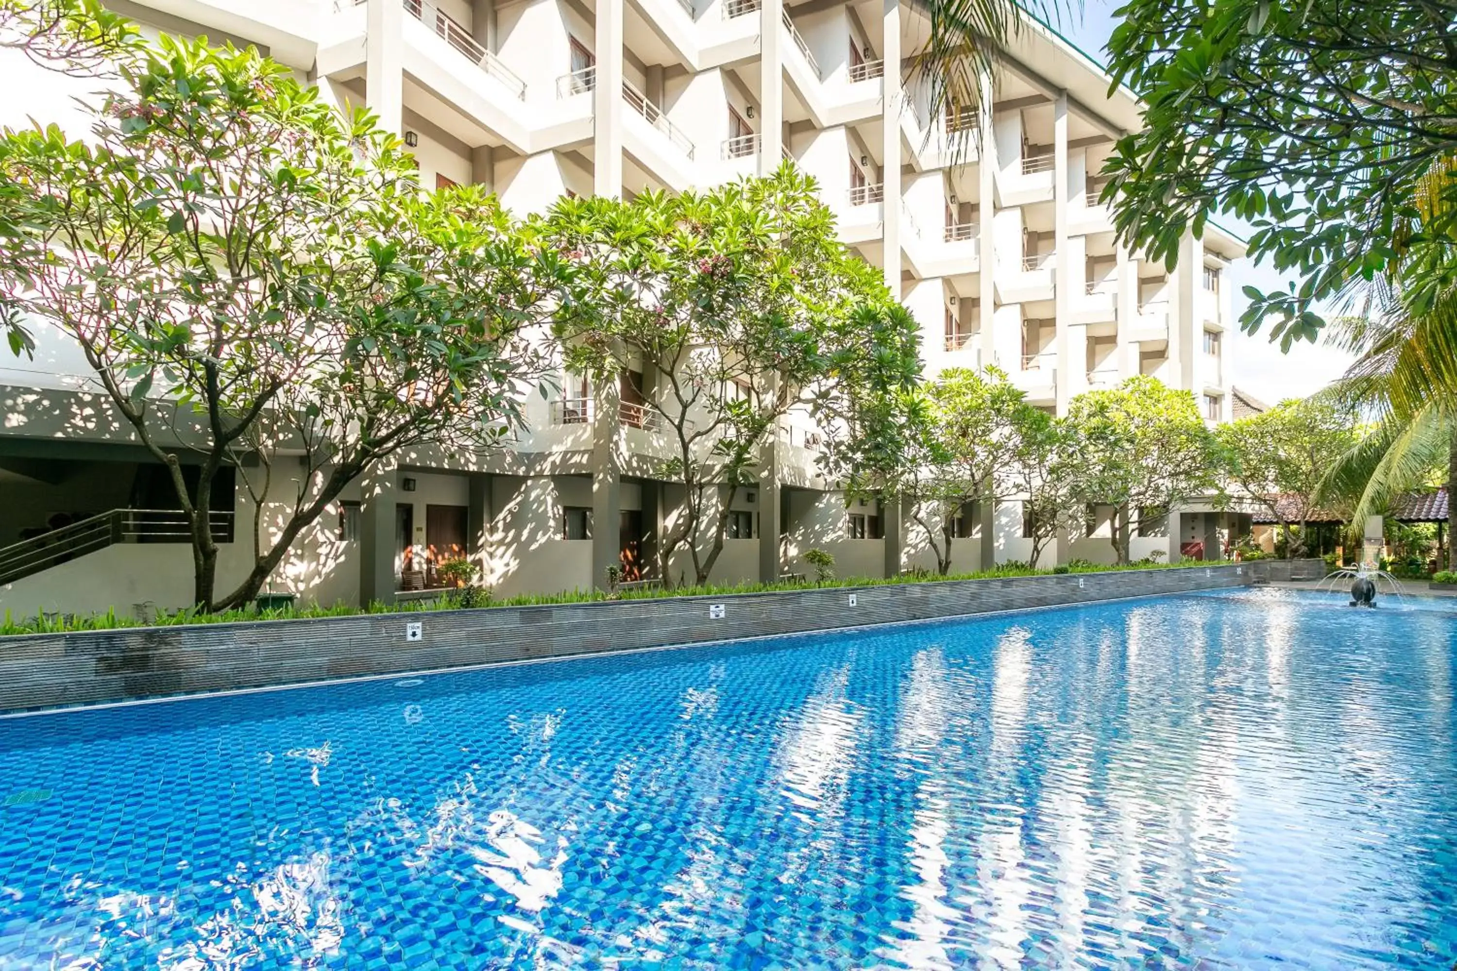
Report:
[[1129,0],[1112,73],[1145,100],[1144,131],[1109,159],[1120,239],[1170,268],[1186,231],[1224,213],[1254,227],[1249,255],[1301,277],[1247,293],[1249,332],[1317,339],[1317,304],[1391,269],[1453,281],[1457,207],[1425,208],[1457,127],[1450,7],[1416,0]]

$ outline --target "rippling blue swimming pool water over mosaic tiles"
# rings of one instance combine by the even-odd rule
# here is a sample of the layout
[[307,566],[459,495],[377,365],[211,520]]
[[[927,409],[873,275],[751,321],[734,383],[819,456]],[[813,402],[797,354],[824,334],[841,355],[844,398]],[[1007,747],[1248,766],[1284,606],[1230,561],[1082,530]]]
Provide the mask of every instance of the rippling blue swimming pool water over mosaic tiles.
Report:
[[0,968],[1432,968],[1457,616],[1278,591],[0,722]]

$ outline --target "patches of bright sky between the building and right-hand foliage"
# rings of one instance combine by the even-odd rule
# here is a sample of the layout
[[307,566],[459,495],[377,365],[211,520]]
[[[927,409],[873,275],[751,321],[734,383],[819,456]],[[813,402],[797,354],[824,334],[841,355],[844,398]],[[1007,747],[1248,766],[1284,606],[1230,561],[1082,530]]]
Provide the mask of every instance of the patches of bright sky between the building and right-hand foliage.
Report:
[[[1106,61],[1107,54],[1103,45],[1109,33],[1113,32],[1116,17],[1113,10],[1122,0],[1068,0],[1062,3],[1061,22],[1053,15],[1053,26],[1069,41],[1083,48],[1096,60]],[[1069,10],[1071,7],[1071,10]],[[1049,12],[1052,13],[1052,12]],[[1220,217],[1220,223],[1228,229],[1247,236],[1247,227],[1233,217]],[[1250,261],[1241,261],[1234,272],[1234,314],[1238,317],[1249,300],[1244,298],[1244,285],[1269,291],[1284,287],[1292,277],[1282,275],[1266,262],[1256,266]],[[1236,328],[1236,332],[1225,336],[1228,349],[1227,365],[1233,376],[1233,383],[1268,405],[1273,405],[1287,397],[1304,397],[1329,384],[1351,362],[1351,355],[1336,348],[1300,342],[1288,354],[1282,354],[1279,344],[1269,342],[1269,328],[1260,333],[1249,335]]]

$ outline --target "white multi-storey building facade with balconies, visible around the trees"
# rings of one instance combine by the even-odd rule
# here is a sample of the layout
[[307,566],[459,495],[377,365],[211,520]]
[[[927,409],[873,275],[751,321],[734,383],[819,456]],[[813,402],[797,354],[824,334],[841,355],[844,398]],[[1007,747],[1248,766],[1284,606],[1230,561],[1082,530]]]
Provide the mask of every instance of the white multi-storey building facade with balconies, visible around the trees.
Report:
[[[1187,239],[1179,268],[1166,274],[1116,245],[1096,172],[1113,140],[1139,124],[1138,105],[1126,92],[1106,98],[1099,68],[1040,25],[1020,32],[1007,52],[989,111],[949,119],[930,116],[925,93],[902,83],[905,57],[925,35],[922,12],[903,0],[246,6],[240,13],[223,0],[137,0],[125,13],[149,29],[256,44],[332,102],[366,105],[407,135],[424,186],[484,183],[520,215],[565,192],[682,191],[793,159],[817,179],[844,242],[883,268],[921,323],[928,376],[995,364],[1033,403],[1061,413],[1084,390],[1154,374],[1193,392],[1211,421],[1230,418],[1221,335],[1233,326],[1230,274],[1243,246],[1211,229],[1202,240]],[[9,90],[36,92],[0,109],[0,122],[64,121],[71,109],[57,92],[95,87],[38,80],[38,70],[19,55],[0,60]],[[965,144],[953,144],[957,138]],[[55,339],[42,339],[35,362],[0,361],[0,393],[12,400],[36,389],[60,400],[86,387],[85,365]],[[533,400],[529,418],[530,431],[506,456],[401,457],[398,469],[360,491],[364,531],[388,540],[388,518],[395,540],[418,556],[434,543],[423,534],[428,507],[465,508],[469,553],[495,590],[514,594],[590,587],[600,581],[597,566],[616,556],[618,521],[641,523],[651,536],[672,520],[673,486],[651,473],[661,453],[651,432],[632,422],[574,422],[557,400]],[[44,435],[25,422],[0,428],[0,491],[26,480],[25,463],[7,470],[6,456],[64,460],[47,434],[41,448]],[[105,440],[128,435],[112,428]],[[814,466],[814,441],[794,422],[781,429],[772,480],[736,504],[753,515],[755,534],[727,542],[714,579],[813,572],[800,560],[812,547],[830,550],[841,575],[932,562],[924,537],[893,511],[845,507]],[[411,534],[401,533],[407,505]],[[568,523],[580,510],[592,512],[590,540]],[[42,520],[92,511],[99,510],[38,507]],[[781,534],[777,553],[761,550],[766,523]],[[372,572],[348,528],[315,533],[280,587],[321,600],[393,594],[404,550],[389,550],[389,566]],[[0,536],[0,547],[16,539]],[[399,544],[386,540],[379,542]],[[1000,504],[957,542],[953,569],[1023,559],[1024,547],[1018,504]],[[1134,556],[1155,547],[1177,553],[1174,537],[1134,539]],[[163,556],[162,549],[189,566],[184,547],[147,552]],[[1094,533],[1055,547],[1046,562],[1069,556],[1110,559],[1112,546]],[[236,559],[224,556],[224,575]],[[64,591],[83,584],[87,563],[101,560],[0,587],[0,610],[178,606],[189,594],[189,582],[179,585],[168,568],[131,578],[109,600],[105,584],[90,584],[90,600],[74,604]]]

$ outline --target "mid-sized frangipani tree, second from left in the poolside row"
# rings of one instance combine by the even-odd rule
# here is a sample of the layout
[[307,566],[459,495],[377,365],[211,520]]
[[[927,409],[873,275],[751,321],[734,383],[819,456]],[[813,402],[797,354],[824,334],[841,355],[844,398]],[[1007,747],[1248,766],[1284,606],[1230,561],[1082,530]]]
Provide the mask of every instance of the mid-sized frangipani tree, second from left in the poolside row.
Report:
[[785,415],[829,412],[867,370],[915,361],[914,322],[790,165],[707,192],[562,199],[535,231],[577,266],[559,314],[570,370],[641,370],[644,408],[673,443],[659,472],[685,498],[657,546],[664,579],[686,550],[708,581],[734,496]]

